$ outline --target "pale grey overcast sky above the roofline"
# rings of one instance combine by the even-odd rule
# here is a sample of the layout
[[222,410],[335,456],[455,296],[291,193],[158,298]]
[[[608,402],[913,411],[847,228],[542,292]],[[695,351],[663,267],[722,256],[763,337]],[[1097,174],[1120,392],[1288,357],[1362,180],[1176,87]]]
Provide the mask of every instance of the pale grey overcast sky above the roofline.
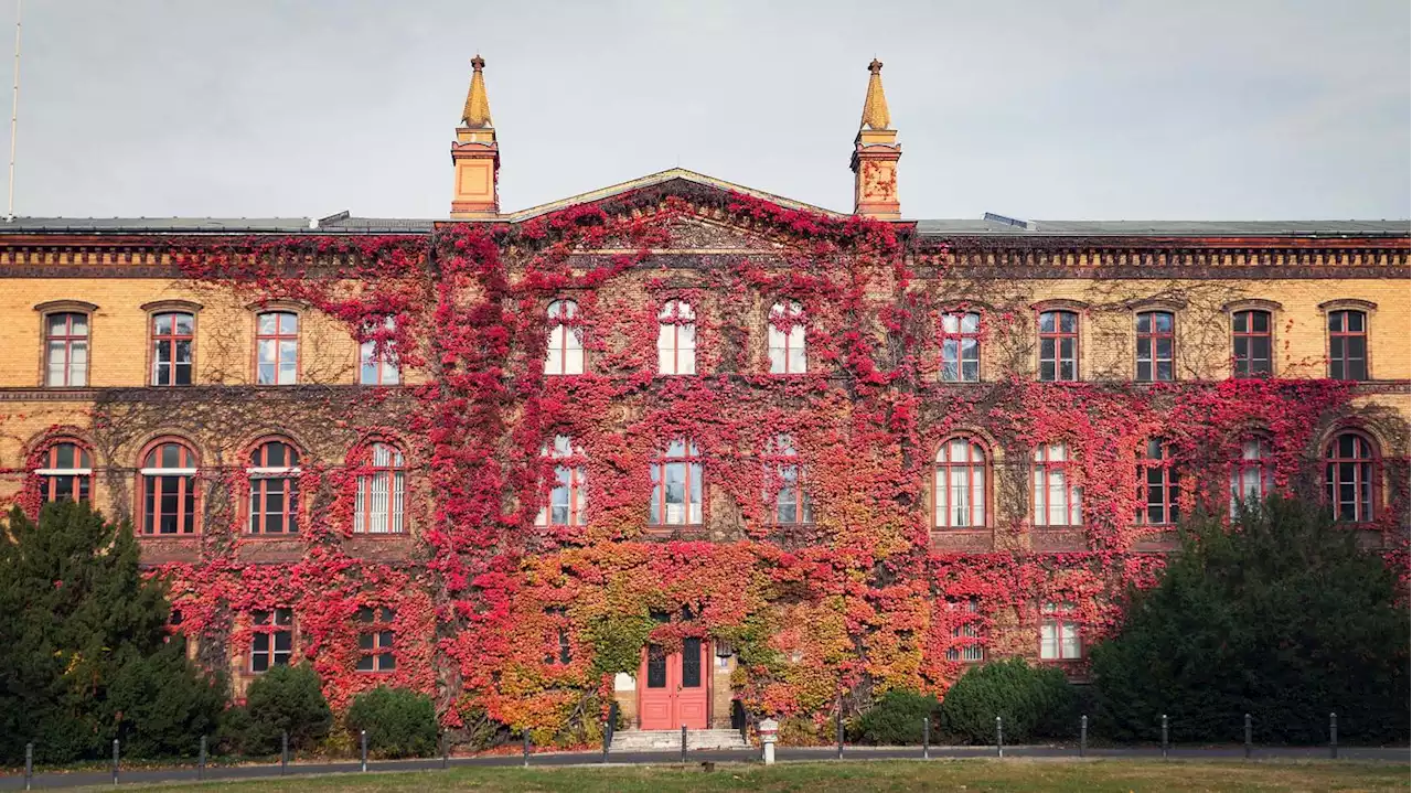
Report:
[[850,210],[877,55],[908,217],[1412,217],[1412,0],[28,0],[23,47],[17,214],[445,217],[479,49],[504,210]]

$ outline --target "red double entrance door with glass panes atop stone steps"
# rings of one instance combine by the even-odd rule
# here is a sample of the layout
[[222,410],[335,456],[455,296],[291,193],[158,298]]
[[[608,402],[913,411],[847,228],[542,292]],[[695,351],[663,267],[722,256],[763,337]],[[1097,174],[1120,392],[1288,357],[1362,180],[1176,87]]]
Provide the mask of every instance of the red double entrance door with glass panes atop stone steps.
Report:
[[706,642],[682,639],[682,652],[648,645],[638,669],[637,713],[642,730],[705,730],[707,727]]

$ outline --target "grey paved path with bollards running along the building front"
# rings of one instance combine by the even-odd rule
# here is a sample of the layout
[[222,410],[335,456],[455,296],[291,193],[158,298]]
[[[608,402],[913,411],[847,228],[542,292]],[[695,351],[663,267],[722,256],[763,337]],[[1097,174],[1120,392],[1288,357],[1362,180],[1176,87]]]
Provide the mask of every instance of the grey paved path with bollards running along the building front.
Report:
[[[777,756],[781,762],[791,761],[827,761],[836,756],[837,749],[832,746],[822,748],[781,748],[777,751]],[[1172,748],[1169,752],[1172,759],[1238,759],[1245,755],[1245,751],[1236,746],[1179,746]],[[843,751],[844,759],[863,761],[863,759],[921,759],[921,746],[847,746]],[[957,758],[994,758],[994,746],[932,746],[932,759],[957,759]],[[1079,756],[1077,746],[1005,746],[1007,758],[1073,758]],[[1162,749],[1156,746],[1135,746],[1135,748],[1104,748],[1104,749],[1089,749],[1087,756],[1090,758],[1124,758],[1124,759],[1161,759]],[[1293,746],[1293,748],[1257,748],[1254,752],[1254,759],[1327,759],[1329,749],[1326,746]],[[731,749],[731,751],[699,751],[688,752],[688,763],[700,763],[706,761],[713,762],[758,762],[760,752],[757,749]],[[1356,746],[1341,746],[1339,749],[1340,759],[1353,761],[1375,761],[1388,763],[1412,763],[1412,748],[1356,748]],[[542,755],[531,755],[530,765],[532,766],[569,766],[569,765],[589,765],[602,763],[602,752],[545,752]],[[609,762],[613,765],[669,765],[681,762],[681,752],[618,752],[609,755]],[[463,766],[520,766],[524,765],[524,758],[521,755],[491,755],[491,756],[476,756],[476,758],[450,758],[449,763],[452,768]],[[428,770],[441,769],[442,761],[426,759],[426,761],[381,761],[369,762],[369,770]],[[308,763],[291,763],[288,768],[288,775],[315,775],[315,773],[357,773],[357,761],[336,761],[336,762],[308,762]],[[243,765],[243,766],[220,766],[208,768],[206,779],[220,779],[220,780],[239,780],[239,779],[263,779],[280,776],[280,765]],[[119,782],[123,785],[152,785],[158,782],[195,782],[196,769],[192,768],[162,768],[151,770],[121,770],[119,773]],[[82,786],[110,786],[113,783],[112,772],[75,772],[75,773],[38,773],[32,780],[35,790],[56,789],[56,787],[82,787]],[[24,790],[24,776],[11,775],[0,776],[0,790]]]

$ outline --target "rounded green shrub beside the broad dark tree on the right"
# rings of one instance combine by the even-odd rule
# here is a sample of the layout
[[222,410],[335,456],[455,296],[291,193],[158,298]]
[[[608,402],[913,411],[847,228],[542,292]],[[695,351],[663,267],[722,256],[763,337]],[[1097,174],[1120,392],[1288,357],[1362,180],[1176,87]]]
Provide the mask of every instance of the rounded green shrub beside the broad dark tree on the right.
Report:
[[1063,672],[1029,666],[1022,658],[976,666],[942,697],[946,731],[971,744],[995,741],[1001,717],[1005,742],[1070,737],[1077,721],[1077,694]]

